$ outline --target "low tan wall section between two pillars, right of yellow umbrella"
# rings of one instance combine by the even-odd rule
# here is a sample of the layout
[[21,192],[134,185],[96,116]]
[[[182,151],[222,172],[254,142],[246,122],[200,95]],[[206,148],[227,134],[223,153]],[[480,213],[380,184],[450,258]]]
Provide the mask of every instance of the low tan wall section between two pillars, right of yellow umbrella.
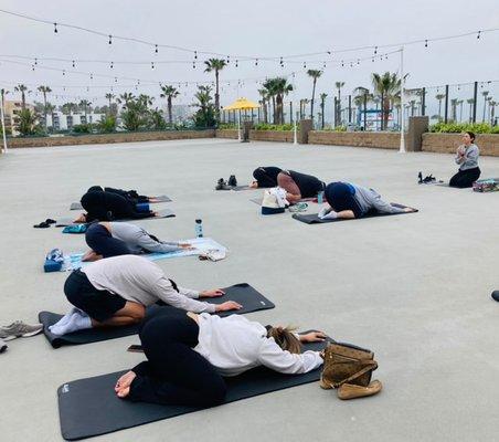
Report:
[[399,149],[401,136],[389,131],[327,131],[311,130],[308,134],[311,145],[378,147],[382,149]]

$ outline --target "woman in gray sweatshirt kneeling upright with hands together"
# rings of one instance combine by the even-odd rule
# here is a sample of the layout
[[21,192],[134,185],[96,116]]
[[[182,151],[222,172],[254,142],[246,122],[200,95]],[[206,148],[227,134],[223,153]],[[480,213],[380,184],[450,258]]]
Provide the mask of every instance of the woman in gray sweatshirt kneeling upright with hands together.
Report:
[[456,164],[459,165],[457,173],[450,178],[449,186],[460,189],[473,187],[473,183],[480,178],[480,168],[478,167],[478,157],[480,150],[475,144],[475,134],[465,131],[463,144],[457,148]]

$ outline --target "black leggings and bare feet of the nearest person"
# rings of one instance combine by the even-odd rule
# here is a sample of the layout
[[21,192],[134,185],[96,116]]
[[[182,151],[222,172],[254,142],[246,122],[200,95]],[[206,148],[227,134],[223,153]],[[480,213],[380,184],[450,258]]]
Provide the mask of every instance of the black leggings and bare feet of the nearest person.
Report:
[[[177,308],[162,307],[158,315],[146,320],[140,341],[148,360],[129,372],[136,376],[127,399],[194,407],[222,403],[226,394],[225,381],[193,350],[198,336],[197,322]],[[127,383],[126,376],[118,380],[115,389],[118,396]]]

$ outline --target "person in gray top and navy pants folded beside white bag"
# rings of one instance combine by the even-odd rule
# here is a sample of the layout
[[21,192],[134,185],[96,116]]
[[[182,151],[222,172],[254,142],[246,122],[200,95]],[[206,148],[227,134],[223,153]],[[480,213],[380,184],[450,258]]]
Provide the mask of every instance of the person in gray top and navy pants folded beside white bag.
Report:
[[379,213],[414,212],[411,208],[399,208],[383,201],[381,196],[372,189],[350,182],[331,182],[325,190],[329,207],[323,207],[318,217],[322,220],[344,218],[362,218],[371,211]]

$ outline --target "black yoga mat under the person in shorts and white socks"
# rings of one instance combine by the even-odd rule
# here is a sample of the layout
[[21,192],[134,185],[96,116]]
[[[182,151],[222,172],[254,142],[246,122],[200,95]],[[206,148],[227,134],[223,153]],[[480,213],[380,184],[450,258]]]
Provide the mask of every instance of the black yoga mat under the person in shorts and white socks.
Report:
[[[232,312],[220,312],[219,316],[229,316],[234,313],[240,315],[245,313],[252,313],[257,311],[264,311],[267,308],[274,308],[275,304],[268,301],[264,295],[253,288],[250,284],[242,283],[232,285],[231,287],[223,288],[225,295],[220,297],[203,298],[211,304],[222,304],[225,301],[235,301],[240,303],[243,308],[240,311]],[[158,305],[152,305],[148,307],[148,312],[153,308],[161,308]],[[116,339],[124,336],[130,336],[137,334],[139,325],[127,326],[127,327],[109,327],[109,328],[88,328],[86,330],[79,330],[75,333],[70,333],[63,336],[53,335],[49,327],[55,324],[62,318],[62,315],[57,315],[52,312],[41,312],[39,313],[39,322],[43,324],[43,334],[45,335],[49,343],[54,348],[59,348],[64,345],[76,345],[76,344],[91,344],[98,343],[100,340]]]

